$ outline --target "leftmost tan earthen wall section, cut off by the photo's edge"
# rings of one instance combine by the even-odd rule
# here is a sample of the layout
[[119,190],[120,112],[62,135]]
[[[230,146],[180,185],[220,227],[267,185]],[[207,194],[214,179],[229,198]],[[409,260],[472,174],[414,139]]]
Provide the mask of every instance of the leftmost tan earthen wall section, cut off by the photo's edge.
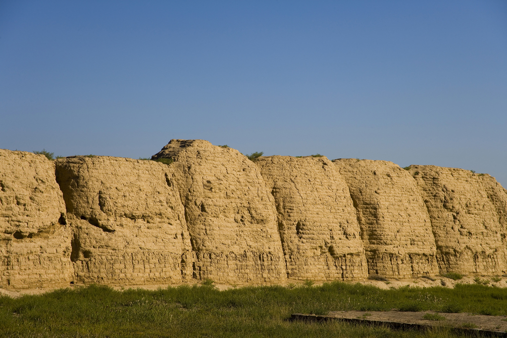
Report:
[[0,149],[0,287],[67,285],[70,237],[54,163]]

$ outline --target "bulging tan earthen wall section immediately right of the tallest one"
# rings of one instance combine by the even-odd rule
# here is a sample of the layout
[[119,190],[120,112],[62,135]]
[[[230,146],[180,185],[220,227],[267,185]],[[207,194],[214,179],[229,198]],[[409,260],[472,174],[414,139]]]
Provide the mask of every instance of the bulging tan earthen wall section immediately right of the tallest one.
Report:
[[368,277],[348,185],[325,157],[261,157],[256,162],[275,199],[287,276]]

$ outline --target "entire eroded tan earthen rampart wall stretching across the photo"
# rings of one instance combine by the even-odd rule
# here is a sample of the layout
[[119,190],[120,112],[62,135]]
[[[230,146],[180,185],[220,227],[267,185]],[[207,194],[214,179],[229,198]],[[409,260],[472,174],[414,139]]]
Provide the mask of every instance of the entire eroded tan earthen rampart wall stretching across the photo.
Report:
[[507,273],[507,191],[487,174],[203,140],[152,159],[0,149],[0,288]]

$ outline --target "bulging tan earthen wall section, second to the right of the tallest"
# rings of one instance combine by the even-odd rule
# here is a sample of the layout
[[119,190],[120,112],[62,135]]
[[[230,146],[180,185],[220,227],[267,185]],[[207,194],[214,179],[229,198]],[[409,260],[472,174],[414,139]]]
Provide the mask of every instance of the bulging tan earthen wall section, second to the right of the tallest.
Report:
[[370,274],[438,273],[430,218],[411,175],[387,161],[338,159],[350,188]]

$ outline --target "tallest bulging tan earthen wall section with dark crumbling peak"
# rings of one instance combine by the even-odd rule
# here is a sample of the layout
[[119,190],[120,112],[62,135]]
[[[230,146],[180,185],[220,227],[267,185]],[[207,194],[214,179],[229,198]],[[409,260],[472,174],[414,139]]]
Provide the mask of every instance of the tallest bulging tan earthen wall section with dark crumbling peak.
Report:
[[171,140],[171,158],[196,254],[194,277],[229,283],[283,282],[276,210],[259,168],[238,151]]

